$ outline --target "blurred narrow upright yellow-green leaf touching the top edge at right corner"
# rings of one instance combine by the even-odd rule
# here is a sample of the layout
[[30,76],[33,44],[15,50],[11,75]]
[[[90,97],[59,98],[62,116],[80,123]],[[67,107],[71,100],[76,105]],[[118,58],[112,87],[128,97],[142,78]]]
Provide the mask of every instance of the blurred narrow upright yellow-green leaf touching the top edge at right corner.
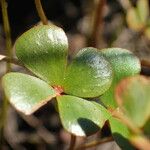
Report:
[[143,24],[146,24],[149,16],[149,2],[148,0],[138,0],[137,1],[137,11],[140,20]]

